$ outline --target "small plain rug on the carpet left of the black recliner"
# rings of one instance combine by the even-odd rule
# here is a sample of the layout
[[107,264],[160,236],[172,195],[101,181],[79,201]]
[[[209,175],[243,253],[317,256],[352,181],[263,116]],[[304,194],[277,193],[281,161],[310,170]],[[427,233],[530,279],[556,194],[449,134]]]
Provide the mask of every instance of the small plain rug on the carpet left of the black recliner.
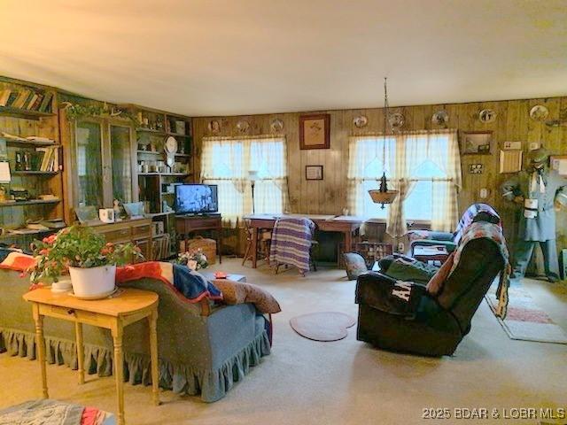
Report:
[[338,341],[348,335],[346,328],[350,328],[356,320],[345,313],[320,312],[302,314],[293,317],[291,328],[300,336],[314,341]]

